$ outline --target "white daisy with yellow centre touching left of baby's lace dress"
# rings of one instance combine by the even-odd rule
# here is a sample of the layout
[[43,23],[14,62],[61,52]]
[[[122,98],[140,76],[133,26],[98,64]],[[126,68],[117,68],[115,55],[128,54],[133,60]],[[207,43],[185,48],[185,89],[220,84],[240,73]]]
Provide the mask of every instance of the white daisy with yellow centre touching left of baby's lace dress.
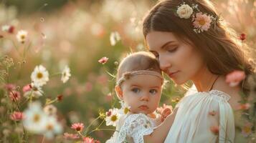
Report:
[[114,108],[114,109],[110,109],[107,114],[106,114],[106,118],[105,118],[105,121],[106,121],[106,125],[107,126],[116,126],[117,122],[118,122],[118,119],[120,118],[120,114],[118,113],[118,109],[117,108]]

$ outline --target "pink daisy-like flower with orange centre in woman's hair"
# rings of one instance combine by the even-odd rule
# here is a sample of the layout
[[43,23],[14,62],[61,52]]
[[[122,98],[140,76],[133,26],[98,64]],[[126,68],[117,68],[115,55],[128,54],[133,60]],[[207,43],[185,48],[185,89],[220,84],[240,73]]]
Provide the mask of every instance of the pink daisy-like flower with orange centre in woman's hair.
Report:
[[202,14],[202,12],[196,13],[196,18],[194,19],[193,25],[194,28],[198,29],[198,31],[207,31],[211,26],[211,16],[207,16],[207,14]]

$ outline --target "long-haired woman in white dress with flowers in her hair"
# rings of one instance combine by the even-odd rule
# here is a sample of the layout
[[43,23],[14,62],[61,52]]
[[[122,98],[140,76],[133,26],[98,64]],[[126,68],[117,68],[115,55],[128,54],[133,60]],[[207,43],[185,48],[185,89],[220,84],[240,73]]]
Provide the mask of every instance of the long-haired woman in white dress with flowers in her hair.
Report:
[[253,68],[212,3],[161,1],[146,15],[143,34],[161,70],[176,84],[192,80],[197,89],[179,102],[165,142],[234,142],[232,109],[248,87],[229,87],[225,76],[234,70],[252,74]]

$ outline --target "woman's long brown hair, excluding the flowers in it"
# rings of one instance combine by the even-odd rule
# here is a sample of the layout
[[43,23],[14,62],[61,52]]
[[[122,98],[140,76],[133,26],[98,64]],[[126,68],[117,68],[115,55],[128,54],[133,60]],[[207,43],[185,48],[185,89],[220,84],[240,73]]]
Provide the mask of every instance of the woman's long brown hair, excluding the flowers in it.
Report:
[[[209,0],[166,0],[153,6],[143,20],[143,35],[151,31],[172,32],[180,40],[194,46],[206,61],[207,68],[212,74],[227,75],[234,70],[244,70],[245,74],[253,73],[249,56],[245,53],[245,44],[224,21],[216,20],[207,31],[196,33],[193,29],[192,18],[181,19],[176,16],[177,7],[185,2],[189,6],[198,5],[203,14],[219,17]],[[244,84],[243,91],[249,87]]]

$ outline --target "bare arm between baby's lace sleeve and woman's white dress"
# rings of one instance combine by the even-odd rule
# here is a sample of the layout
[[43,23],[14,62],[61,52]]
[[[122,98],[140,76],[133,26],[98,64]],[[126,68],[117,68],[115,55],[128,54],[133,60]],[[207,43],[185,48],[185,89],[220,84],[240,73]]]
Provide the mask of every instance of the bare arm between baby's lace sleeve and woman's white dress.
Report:
[[174,122],[177,110],[178,109],[174,109],[174,111],[168,117],[166,117],[163,123],[160,124],[156,129],[154,129],[154,131],[151,134],[144,136],[144,142],[164,142],[169,130],[171,129],[171,125]]

